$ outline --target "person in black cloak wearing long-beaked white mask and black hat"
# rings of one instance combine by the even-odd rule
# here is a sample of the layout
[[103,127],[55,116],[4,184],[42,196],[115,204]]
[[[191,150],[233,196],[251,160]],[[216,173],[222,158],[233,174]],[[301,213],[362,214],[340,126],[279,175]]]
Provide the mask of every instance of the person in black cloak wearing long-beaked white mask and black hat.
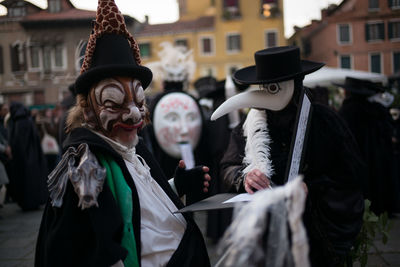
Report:
[[[246,120],[232,131],[221,160],[221,174],[232,192],[254,193],[286,181],[289,150],[304,75],[322,63],[300,59],[295,46],[257,51],[255,66],[236,71],[242,84],[260,89],[238,94],[213,114],[250,107]],[[308,90],[304,88],[304,90]],[[344,121],[329,107],[312,103],[305,154],[299,173],[308,192],[303,215],[312,266],[343,265],[362,225],[360,190],[364,164]]]

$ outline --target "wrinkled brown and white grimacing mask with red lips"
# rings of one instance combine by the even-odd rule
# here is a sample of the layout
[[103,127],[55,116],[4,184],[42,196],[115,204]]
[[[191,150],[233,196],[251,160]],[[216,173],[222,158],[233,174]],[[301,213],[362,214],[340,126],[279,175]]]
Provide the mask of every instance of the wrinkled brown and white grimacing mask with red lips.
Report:
[[89,93],[85,112],[89,126],[128,147],[138,142],[137,131],[146,116],[145,95],[139,80],[130,77],[107,78]]

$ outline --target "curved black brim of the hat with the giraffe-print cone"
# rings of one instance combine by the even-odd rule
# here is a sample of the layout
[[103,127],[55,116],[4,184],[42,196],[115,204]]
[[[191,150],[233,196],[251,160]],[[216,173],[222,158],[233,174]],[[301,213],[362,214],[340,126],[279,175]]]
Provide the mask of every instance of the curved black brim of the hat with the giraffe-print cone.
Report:
[[98,66],[87,70],[76,79],[75,91],[78,94],[87,94],[93,84],[115,76],[136,78],[142,83],[143,89],[146,89],[153,78],[153,73],[144,66],[121,64]]

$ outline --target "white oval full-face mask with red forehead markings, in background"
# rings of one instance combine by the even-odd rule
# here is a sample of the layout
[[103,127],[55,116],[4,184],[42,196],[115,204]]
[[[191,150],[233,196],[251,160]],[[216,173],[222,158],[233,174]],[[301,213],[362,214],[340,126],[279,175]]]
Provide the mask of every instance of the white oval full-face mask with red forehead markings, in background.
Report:
[[202,131],[202,117],[195,100],[181,92],[164,95],[153,114],[156,140],[162,150],[174,158],[181,158],[178,143],[188,142],[195,149]]

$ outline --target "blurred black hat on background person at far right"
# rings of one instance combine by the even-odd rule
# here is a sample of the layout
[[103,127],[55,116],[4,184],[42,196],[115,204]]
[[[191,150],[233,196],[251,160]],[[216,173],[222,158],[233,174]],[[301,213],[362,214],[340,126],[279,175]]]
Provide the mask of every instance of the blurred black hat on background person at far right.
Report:
[[357,79],[353,77],[346,77],[344,84],[332,83],[333,85],[342,87],[356,95],[372,96],[377,93],[382,93],[384,88],[368,80]]

